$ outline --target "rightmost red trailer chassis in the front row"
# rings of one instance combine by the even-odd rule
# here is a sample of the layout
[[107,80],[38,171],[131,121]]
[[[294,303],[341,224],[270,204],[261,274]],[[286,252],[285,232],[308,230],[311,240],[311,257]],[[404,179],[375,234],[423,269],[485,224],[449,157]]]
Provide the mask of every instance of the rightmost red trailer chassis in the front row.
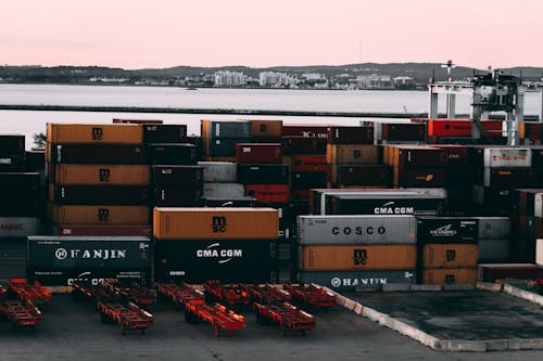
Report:
[[253,304],[256,310],[256,322],[266,323],[266,321],[274,321],[279,323],[282,330],[282,335],[287,336],[287,331],[300,331],[305,336],[306,331],[311,331],[316,326],[315,317],[300,310],[289,302],[279,305],[261,305]]

